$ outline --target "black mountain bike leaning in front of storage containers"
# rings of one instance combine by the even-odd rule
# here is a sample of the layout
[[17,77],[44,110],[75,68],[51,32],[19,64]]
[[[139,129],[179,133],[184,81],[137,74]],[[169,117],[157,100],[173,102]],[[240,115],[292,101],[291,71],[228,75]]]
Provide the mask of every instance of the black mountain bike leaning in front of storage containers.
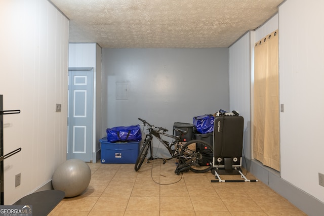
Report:
[[[138,118],[143,122],[144,127],[147,126],[148,134],[145,135],[143,146],[140,153],[136,159],[135,171],[138,171],[143,164],[148,150],[150,149],[150,156],[147,159],[147,163],[151,160],[158,159],[153,157],[152,150],[152,139],[155,137],[160,141],[169,151],[171,157],[168,159],[163,159],[163,164],[172,158],[178,159],[178,165],[175,170],[175,174],[179,175],[180,172],[191,170],[193,172],[207,172],[213,168],[213,147],[203,141],[203,140],[191,140],[186,143],[181,142],[181,136],[188,133],[188,128],[186,130],[180,128],[174,128],[175,132],[178,132],[180,136],[167,134],[168,129],[164,127],[156,127],[147,121]],[[172,138],[171,142],[168,142],[161,138],[161,136],[166,136]]]

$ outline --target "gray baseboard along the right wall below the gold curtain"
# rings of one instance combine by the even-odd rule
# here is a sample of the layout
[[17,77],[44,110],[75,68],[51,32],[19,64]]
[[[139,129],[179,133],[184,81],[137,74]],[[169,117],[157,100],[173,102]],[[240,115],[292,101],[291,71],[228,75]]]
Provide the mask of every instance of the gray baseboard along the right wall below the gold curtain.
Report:
[[285,197],[307,215],[318,215],[318,212],[324,212],[323,202],[282,179],[278,171],[264,166],[257,160],[244,159],[243,161],[245,161],[244,167],[249,167],[248,171],[258,180]]

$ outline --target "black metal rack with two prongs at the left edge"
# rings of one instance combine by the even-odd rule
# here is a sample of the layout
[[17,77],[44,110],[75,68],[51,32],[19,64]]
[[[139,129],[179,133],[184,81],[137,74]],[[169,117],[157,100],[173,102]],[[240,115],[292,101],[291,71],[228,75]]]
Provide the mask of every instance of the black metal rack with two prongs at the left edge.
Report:
[[4,205],[4,159],[21,151],[18,148],[4,155],[4,115],[18,114],[20,110],[3,110],[3,96],[0,95],[0,205]]

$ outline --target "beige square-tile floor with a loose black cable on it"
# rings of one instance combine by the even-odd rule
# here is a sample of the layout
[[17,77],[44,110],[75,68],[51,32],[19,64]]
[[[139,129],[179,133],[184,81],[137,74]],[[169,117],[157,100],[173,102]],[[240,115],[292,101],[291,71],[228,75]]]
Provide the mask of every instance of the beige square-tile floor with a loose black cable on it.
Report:
[[92,178],[87,190],[64,198],[49,215],[306,215],[262,182],[212,183],[211,172],[177,176],[173,160],[144,163],[137,172],[134,164],[88,165]]

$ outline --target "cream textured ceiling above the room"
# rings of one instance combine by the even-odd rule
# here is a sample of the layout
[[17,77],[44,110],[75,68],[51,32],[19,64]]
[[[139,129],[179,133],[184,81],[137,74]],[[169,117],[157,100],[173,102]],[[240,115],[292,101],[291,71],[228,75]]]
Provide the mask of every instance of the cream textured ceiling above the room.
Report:
[[50,0],[69,21],[69,42],[102,48],[229,47],[284,0]]

